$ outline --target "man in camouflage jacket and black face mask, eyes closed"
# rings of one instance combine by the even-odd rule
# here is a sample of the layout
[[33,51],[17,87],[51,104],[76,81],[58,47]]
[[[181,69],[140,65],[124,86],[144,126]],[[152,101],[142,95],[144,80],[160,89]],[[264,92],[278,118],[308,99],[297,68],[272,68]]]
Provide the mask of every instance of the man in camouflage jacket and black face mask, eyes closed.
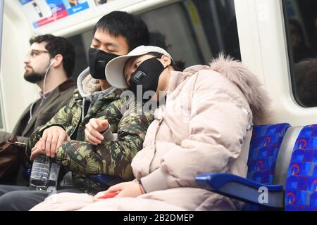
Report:
[[[30,160],[45,154],[72,172],[68,181],[73,182],[73,187],[63,191],[103,190],[89,179],[90,174],[111,175],[116,177],[112,181],[115,183],[133,178],[130,162],[142,148],[153,116],[123,112],[125,101],[120,98],[123,90],[108,84],[104,70],[112,58],[148,41],[147,26],[134,15],[114,11],[101,18],[94,27],[89,68],[78,77],[73,98],[30,137],[27,143]],[[96,145],[85,142],[85,134],[89,132],[99,132],[103,141],[96,141]],[[30,210],[48,195],[24,190],[0,186],[0,210]]]

